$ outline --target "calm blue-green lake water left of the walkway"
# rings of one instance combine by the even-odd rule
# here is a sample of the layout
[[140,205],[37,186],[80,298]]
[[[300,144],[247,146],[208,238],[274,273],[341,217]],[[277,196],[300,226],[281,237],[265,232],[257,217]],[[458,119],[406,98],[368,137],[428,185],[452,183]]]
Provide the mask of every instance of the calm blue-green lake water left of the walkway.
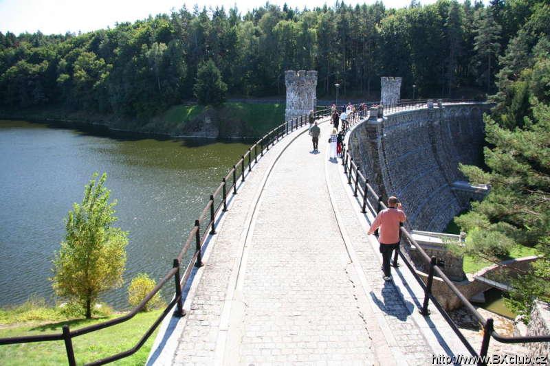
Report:
[[142,272],[164,277],[210,194],[248,146],[113,138],[0,121],[0,306],[30,295],[58,300],[48,277],[64,219],[82,202],[91,175],[107,172],[106,187],[118,200],[115,225],[129,231],[129,244],[124,286],[102,300],[126,308],[131,278]]

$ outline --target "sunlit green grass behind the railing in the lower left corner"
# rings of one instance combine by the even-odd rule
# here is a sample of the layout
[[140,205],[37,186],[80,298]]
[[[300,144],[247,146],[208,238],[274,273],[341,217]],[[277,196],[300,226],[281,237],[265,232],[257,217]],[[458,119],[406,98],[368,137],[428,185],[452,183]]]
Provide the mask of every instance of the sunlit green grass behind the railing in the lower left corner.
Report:
[[[142,312],[124,323],[74,338],[76,363],[81,365],[128,350],[140,340],[161,312]],[[65,324],[76,330],[120,315],[98,314],[94,319],[74,319],[60,308],[42,307],[36,301],[28,301],[17,308],[0,310],[0,338],[61,333],[61,327]],[[156,333],[138,352],[113,365],[144,365]],[[0,360],[2,365],[66,365],[67,353],[63,341],[0,345]]]

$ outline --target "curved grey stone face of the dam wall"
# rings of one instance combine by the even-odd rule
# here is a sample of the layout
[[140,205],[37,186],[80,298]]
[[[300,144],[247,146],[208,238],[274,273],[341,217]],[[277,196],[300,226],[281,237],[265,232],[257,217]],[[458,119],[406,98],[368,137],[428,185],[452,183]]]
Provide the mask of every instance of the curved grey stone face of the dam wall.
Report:
[[384,201],[397,196],[403,203],[410,229],[443,231],[486,192],[467,184],[459,163],[483,163],[483,113],[490,106],[436,104],[388,113],[355,128],[349,150]]

